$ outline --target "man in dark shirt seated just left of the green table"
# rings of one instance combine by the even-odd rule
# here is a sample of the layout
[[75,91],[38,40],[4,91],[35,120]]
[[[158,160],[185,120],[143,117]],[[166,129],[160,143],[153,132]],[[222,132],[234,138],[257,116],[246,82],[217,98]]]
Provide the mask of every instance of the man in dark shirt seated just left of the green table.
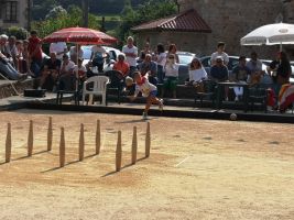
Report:
[[[228,67],[224,64],[224,59],[221,56],[216,58],[216,65],[210,68],[210,78],[215,82],[227,81],[229,77]],[[225,98],[228,100],[229,88],[225,87]]]

